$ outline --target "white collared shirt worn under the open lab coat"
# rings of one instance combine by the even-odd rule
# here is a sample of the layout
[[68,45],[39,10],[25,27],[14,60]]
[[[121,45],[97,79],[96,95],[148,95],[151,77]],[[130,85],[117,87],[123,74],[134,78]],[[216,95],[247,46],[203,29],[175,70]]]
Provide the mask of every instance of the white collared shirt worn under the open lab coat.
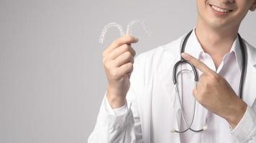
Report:
[[[199,59],[204,64],[206,64],[206,66],[208,66],[210,69],[216,71],[216,73],[219,74],[221,77],[224,77],[224,79],[226,79],[227,82],[229,82],[232,89],[234,89],[234,92],[236,92],[237,95],[239,94],[239,82],[242,69],[242,51],[240,49],[238,37],[234,40],[230,51],[224,55],[221,64],[219,64],[219,67],[217,69],[214,65],[214,61],[211,58],[211,56],[204,52],[204,49],[202,49],[201,44],[199,44],[195,30],[193,30],[190,39],[188,39],[187,45],[189,45],[189,47],[186,47],[186,53],[196,57],[196,59]],[[181,69],[188,69],[188,65],[186,65],[185,68],[181,67]],[[201,71],[197,71],[198,75],[200,76],[202,74]],[[193,113],[192,91],[194,87],[193,82],[191,82],[193,81],[193,76],[191,76],[191,74],[192,73],[180,74],[181,85],[179,87],[179,89],[182,88],[182,104],[188,123],[191,122]],[[198,117],[200,117],[200,112],[202,110],[206,110],[204,109],[204,107],[201,107],[201,105],[196,105],[197,108],[194,118],[195,121],[198,120]],[[205,125],[211,127],[208,129],[208,131],[205,131],[206,134],[207,132],[209,133],[209,137],[213,135],[213,132],[216,132],[223,142],[235,142],[234,137],[232,137],[232,135],[230,134],[229,123],[226,122],[225,119],[219,117],[216,114],[213,114],[212,112],[207,111],[206,121],[207,122]],[[181,121],[180,123],[180,129],[186,129],[186,125],[184,124],[184,122]],[[196,127],[194,127],[194,129],[195,128]],[[196,136],[195,132],[191,132],[191,130],[188,130],[188,132],[180,134],[180,142],[200,142],[200,139],[197,139],[197,137],[200,136]]]

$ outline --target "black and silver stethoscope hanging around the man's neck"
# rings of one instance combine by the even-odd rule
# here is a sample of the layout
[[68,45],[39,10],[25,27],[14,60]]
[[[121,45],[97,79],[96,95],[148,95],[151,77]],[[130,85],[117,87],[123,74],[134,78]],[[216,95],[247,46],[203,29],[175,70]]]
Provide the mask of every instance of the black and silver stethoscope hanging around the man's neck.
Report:
[[[191,30],[185,37],[185,39],[183,40],[182,42],[182,45],[181,45],[181,49],[180,49],[180,54],[184,52],[185,50],[185,47],[186,47],[186,43],[188,41],[188,38],[189,36],[191,35],[193,30]],[[242,71],[241,71],[241,77],[240,77],[240,83],[239,83],[239,98],[242,99],[242,89],[243,89],[243,84],[244,84],[244,77],[245,77],[245,74],[244,72],[246,71],[246,67],[247,67],[247,51],[246,49],[244,48],[244,42],[242,41],[242,37],[238,34],[238,39],[239,39],[239,44],[240,44],[240,47],[241,47],[241,51],[242,51]],[[203,128],[201,129],[192,129],[191,126],[193,124],[193,119],[195,117],[195,109],[196,109],[196,99],[193,98],[193,115],[192,115],[192,119],[191,119],[191,123],[188,124],[187,120],[186,120],[186,115],[184,114],[184,111],[183,111],[183,108],[181,106],[181,101],[180,101],[180,94],[179,94],[179,91],[178,91],[178,83],[177,83],[177,68],[180,64],[188,64],[191,66],[191,68],[193,69],[193,74],[194,74],[194,81],[198,82],[198,73],[196,71],[196,67],[193,66],[193,64],[189,63],[188,61],[186,61],[185,59],[183,59],[182,56],[180,56],[180,61],[177,61],[176,64],[173,66],[173,84],[175,85],[175,94],[178,96],[178,102],[180,104],[180,112],[181,112],[181,116],[183,118],[183,122],[185,123],[186,125],[186,129],[184,130],[177,130],[177,129],[173,129],[173,131],[171,132],[176,132],[176,133],[184,133],[186,131],[191,130],[192,132],[202,132],[204,130],[207,129],[207,126],[204,126]],[[189,71],[189,70],[187,70]]]

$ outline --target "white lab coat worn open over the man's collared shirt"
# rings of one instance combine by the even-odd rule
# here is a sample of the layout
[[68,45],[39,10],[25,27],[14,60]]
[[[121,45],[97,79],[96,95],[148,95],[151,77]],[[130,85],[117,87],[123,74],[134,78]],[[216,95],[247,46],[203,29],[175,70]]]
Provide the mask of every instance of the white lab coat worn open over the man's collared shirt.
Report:
[[[135,58],[131,87],[127,93],[127,112],[119,116],[108,114],[104,104],[101,104],[96,126],[88,139],[89,143],[180,142],[179,134],[170,133],[170,130],[179,129],[181,121],[180,114],[177,115],[180,107],[175,101],[177,99],[172,75],[173,65],[180,60],[180,44],[183,38],[184,36]],[[256,49],[246,41],[244,43],[247,48],[247,76],[243,99],[248,108],[242,121],[230,134],[237,142],[256,143]],[[193,123],[194,127],[207,125],[207,119],[210,118],[207,117],[207,112],[205,109],[198,114],[201,119]],[[211,132],[210,128],[204,132]],[[198,133],[197,138],[201,142],[223,142],[221,135],[209,137],[204,132]]]

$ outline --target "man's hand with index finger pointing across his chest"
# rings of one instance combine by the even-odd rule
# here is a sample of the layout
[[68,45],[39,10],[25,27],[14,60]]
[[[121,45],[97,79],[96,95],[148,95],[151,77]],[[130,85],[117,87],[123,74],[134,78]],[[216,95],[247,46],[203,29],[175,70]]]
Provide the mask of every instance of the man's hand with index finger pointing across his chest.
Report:
[[234,128],[242,119],[247,104],[237,97],[226,79],[206,64],[190,54],[183,53],[181,56],[202,72],[196,88],[193,89],[196,100],[206,109],[226,119]]

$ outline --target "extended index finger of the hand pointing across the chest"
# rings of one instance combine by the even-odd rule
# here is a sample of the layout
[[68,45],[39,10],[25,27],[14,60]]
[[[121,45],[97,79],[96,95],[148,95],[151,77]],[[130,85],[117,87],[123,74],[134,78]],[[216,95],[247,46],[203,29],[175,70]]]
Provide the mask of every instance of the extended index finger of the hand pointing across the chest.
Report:
[[211,70],[206,64],[201,62],[200,60],[196,59],[195,57],[191,56],[190,54],[187,53],[182,53],[181,56],[186,59],[189,63],[193,64],[197,69],[202,71],[204,74],[212,74],[214,71]]

